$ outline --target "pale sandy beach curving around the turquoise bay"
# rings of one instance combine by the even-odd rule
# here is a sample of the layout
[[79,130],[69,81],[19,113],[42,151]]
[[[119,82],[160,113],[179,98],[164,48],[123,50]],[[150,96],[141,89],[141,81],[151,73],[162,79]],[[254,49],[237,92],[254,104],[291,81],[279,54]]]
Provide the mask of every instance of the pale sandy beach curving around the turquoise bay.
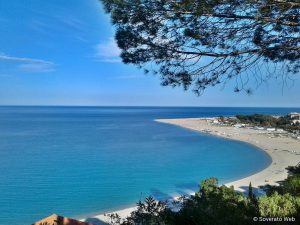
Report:
[[[286,136],[286,132],[278,133],[223,126],[212,123],[213,119],[215,118],[157,119],[155,121],[230,140],[246,142],[266,152],[272,159],[268,167],[248,177],[224,184],[234,186],[237,191],[244,192],[250,182],[254,188],[265,184],[276,185],[277,181],[286,178],[286,167],[294,166],[300,162],[300,140]],[[130,207],[110,213],[117,213],[121,218],[126,218],[135,209],[136,207]],[[93,216],[91,219],[99,220],[98,224],[108,222],[108,217],[105,214]],[[83,221],[85,220],[83,219]]]

